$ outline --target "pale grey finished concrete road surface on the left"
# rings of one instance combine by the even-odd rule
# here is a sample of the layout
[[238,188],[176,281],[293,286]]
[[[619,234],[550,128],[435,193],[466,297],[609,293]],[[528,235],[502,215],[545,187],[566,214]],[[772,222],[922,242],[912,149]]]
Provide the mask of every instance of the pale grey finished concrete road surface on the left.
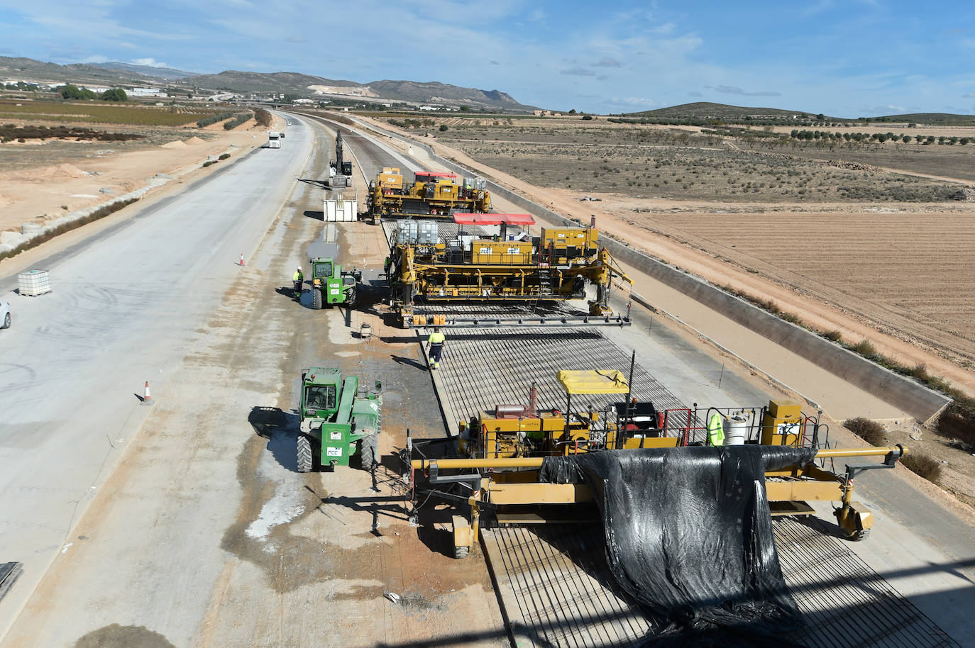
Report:
[[145,382],[166,400],[188,341],[307,166],[313,135],[292,122],[281,149],[221,162],[192,190],[39,264],[52,293],[20,296],[16,277],[0,280],[15,317],[0,335],[0,562],[23,563],[0,634],[71,551],[68,532],[151,410],[137,398]]

